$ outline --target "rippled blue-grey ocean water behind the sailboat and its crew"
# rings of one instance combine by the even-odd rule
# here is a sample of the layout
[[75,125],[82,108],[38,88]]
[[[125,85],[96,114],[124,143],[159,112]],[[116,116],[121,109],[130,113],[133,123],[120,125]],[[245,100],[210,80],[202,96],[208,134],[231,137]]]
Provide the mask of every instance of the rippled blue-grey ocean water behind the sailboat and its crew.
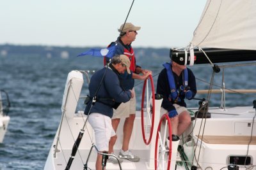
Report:
[[[137,62],[153,71],[156,85],[157,74],[168,62],[168,56],[146,57],[140,55]],[[39,57],[0,56],[0,89],[8,92],[10,124],[0,144],[0,169],[44,169],[45,160],[61,118],[61,102],[69,71],[97,70],[102,59],[93,57]],[[197,78],[198,89],[208,89],[212,76],[209,66],[190,67]],[[256,89],[255,65],[226,68],[225,85],[229,89]],[[213,89],[220,89],[221,73],[214,75]],[[137,108],[140,108],[142,81],[136,81]],[[88,91],[84,90],[83,94]],[[207,97],[198,95],[198,98]],[[212,94],[211,106],[220,106],[220,94]],[[227,106],[252,106],[255,94],[243,96],[226,95]],[[189,101],[188,106],[198,107],[198,101]],[[84,110],[83,104],[79,110]]]

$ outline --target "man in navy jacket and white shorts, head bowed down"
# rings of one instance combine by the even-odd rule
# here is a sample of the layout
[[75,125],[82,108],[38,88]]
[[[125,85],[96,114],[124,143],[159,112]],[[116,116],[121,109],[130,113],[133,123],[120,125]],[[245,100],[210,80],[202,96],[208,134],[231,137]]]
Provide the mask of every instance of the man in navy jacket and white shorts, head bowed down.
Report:
[[[134,97],[132,90],[124,90],[120,86],[118,76],[130,72],[130,60],[125,55],[115,55],[109,67],[104,67],[93,74],[90,84],[90,101],[86,103],[84,111],[88,115],[88,122],[95,132],[95,143],[101,153],[108,153],[109,139],[116,136],[111,124],[113,108],[118,104],[128,102]],[[102,83],[99,80],[104,78]],[[95,97],[95,102],[93,101]],[[102,154],[97,154],[96,169],[102,169]],[[105,167],[104,167],[105,169]]]

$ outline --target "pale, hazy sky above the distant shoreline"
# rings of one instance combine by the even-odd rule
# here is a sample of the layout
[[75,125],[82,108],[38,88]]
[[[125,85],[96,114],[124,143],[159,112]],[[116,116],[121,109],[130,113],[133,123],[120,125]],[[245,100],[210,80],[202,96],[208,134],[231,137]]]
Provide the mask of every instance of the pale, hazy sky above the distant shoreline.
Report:
[[[186,46],[206,0],[134,0],[132,46]],[[132,0],[1,0],[0,45],[106,46],[118,37]]]

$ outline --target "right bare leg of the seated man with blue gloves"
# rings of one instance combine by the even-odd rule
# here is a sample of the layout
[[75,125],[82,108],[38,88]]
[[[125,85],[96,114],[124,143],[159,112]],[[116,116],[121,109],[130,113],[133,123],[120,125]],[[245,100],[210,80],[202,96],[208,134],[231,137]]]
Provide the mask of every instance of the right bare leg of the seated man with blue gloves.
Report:
[[178,125],[177,135],[180,136],[183,132],[186,131],[186,129],[191,124],[191,117],[188,111],[182,111],[182,113],[180,113],[178,117],[179,117],[179,125]]

